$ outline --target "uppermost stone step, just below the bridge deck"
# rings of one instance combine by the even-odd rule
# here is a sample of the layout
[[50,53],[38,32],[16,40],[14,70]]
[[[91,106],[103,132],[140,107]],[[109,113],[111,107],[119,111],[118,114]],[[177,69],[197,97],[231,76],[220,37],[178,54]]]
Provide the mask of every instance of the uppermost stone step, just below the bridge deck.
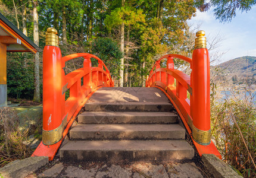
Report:
[[116,103],[86,103],[86,111],[114,111],[114,112],[170,112],[173,104],[167,102],[116,102]]

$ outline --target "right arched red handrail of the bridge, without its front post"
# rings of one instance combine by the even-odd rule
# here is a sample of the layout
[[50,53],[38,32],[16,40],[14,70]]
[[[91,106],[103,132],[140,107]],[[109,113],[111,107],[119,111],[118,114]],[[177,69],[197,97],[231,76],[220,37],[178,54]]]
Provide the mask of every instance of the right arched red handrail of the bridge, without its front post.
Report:
[[[160,61],[164,58],[167,58],[167,67],[161,68]],[[182,71],[174,69],[173,58],[186,59],[187,62],[192,62],[192,59],[181,55],[169,54],[162,56],[153,65],[146,80],[146,87],[160,87],[170,96],[183,122],[188,125],[189,134],[192,134],[191,101],[187,97],[187,91],[192,96],[191,77]],[[156,69],[154,70],[154,68]]]

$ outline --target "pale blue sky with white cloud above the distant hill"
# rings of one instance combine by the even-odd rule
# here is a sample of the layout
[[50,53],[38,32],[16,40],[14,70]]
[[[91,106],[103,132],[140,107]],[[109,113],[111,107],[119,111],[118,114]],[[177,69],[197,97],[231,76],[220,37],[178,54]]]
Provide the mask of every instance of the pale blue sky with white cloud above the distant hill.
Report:
[[200,30],[205,31],[206,37],[223,36],[217,50],[225,52],[220,62],[242,56],[256,56],[256,7],[250,11],[237,11],[236,17],[229,23],[220,23],[214,17],[213,9],[207,12],[196,12],[196,17],[189,24],[201,24]]

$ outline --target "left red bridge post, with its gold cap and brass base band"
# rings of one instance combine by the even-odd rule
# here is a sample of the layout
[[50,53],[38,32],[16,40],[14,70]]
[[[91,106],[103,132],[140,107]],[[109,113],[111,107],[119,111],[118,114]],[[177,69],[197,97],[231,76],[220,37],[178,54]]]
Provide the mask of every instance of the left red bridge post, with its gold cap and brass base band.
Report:
[[43,139],[45,145],[60,141],[63,132],[65,94],[62,94],[64,71],[61,66],[57,30],[48,28],[43,49]]

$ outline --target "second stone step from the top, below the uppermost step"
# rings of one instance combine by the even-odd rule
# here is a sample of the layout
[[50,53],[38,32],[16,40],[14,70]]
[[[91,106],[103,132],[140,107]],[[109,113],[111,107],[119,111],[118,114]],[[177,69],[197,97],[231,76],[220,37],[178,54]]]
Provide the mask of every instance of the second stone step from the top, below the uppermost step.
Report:
[[178,116],[171,112],[85,112],[79,123],[176,123]]

